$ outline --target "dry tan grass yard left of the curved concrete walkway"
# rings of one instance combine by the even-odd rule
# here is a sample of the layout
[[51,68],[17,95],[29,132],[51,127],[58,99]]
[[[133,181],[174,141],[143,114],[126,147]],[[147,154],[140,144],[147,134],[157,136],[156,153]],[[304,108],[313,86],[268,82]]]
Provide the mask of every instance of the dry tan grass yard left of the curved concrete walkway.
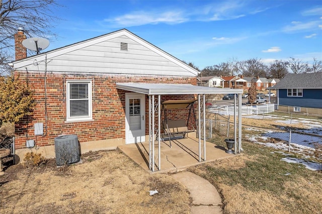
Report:
[[151,175],[118,151],[82,161],[68,169],[54,159],[10,166],[0,176],[1,213],[190,213],[189,192],[167,174]]

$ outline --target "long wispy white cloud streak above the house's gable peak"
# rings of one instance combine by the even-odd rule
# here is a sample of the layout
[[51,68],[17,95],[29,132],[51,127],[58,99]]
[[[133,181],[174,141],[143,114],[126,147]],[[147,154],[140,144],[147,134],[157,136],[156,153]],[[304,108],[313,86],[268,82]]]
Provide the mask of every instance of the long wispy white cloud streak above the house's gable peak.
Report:
[[250,7],[247,2],[241,1],[215,1],[213,4],[196,6],[193,10],[183,5],[181,8],[168,10],[165,8],[142,9],[142,11],[129,12],[116,17],[104,19],[101,24],[109,27],[130,27],[148,24],[166,23],[169,25],[180,24],[189,21],[221,21],[234,20],[247,15],[255,15],[270,8]]

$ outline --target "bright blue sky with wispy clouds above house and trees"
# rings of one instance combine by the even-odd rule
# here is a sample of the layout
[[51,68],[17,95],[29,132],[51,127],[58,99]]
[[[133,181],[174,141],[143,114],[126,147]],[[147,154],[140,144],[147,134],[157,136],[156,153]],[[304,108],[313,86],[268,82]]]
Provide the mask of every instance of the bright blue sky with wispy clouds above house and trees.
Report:
[[68,0],[47,50],[123,28],[199,69],[251,58],[322,60],[322,1]]

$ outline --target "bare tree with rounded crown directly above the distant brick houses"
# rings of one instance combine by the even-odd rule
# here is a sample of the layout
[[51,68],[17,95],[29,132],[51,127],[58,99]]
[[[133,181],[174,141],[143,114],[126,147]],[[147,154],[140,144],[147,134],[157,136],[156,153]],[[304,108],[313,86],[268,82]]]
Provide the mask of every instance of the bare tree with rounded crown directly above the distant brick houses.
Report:
[[259,76],[265,77],[268,67],[261,59],[253,58],[238,63],[238,70],[241,74],[248,77]]

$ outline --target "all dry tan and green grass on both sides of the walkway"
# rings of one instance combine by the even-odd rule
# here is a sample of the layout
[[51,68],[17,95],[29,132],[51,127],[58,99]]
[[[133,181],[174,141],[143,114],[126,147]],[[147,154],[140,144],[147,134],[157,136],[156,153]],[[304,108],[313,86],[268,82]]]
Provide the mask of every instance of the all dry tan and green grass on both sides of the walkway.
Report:
[[[243,125],[287,126],[244,118]],[[224,138],[214,134],[210,141],[225,147]],[[285,156],[277,149],[245,139],[243,149],[242,155],[188,169],[218,189],[224,213],[322,213],[322,171],[281,161]],[[34,169],[9,167],[0,176],[0,212],[190,213],[189,192],[167,174],[149,174],[118,151],[88,153],[82,160],[67,170],[57,169],[54,160]],[[159,193],[150,196],[154,189]]]

